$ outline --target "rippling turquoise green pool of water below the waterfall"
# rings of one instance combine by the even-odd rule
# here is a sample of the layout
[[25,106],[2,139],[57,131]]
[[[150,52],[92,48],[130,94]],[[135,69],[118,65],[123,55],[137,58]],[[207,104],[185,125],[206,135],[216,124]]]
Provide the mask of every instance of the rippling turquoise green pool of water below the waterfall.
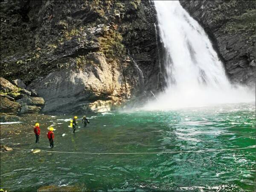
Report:
[[[56,129],[53,150],[197,151],[256,144],[255,103],[99,113],[88,117],[91,123],[82,128],[80,120],[81,128],[75,134],[67,127],[69,122],[64,121],[69,116],[56,116],[49,122],[49,125],[54,123]],[[34,144],[34,134],[1,138],[1,144],[50,151],[47,129],[41,129],[39,145]],[[66,135],[61,137],[63,133]],[[14,150],[1,153],[0,185],[10,191],[35,191],[47,185],[76,185],[84,191],[254,191],[255,160],[255,148],[206,153],[100,155],[44,151],[32,154]]]

